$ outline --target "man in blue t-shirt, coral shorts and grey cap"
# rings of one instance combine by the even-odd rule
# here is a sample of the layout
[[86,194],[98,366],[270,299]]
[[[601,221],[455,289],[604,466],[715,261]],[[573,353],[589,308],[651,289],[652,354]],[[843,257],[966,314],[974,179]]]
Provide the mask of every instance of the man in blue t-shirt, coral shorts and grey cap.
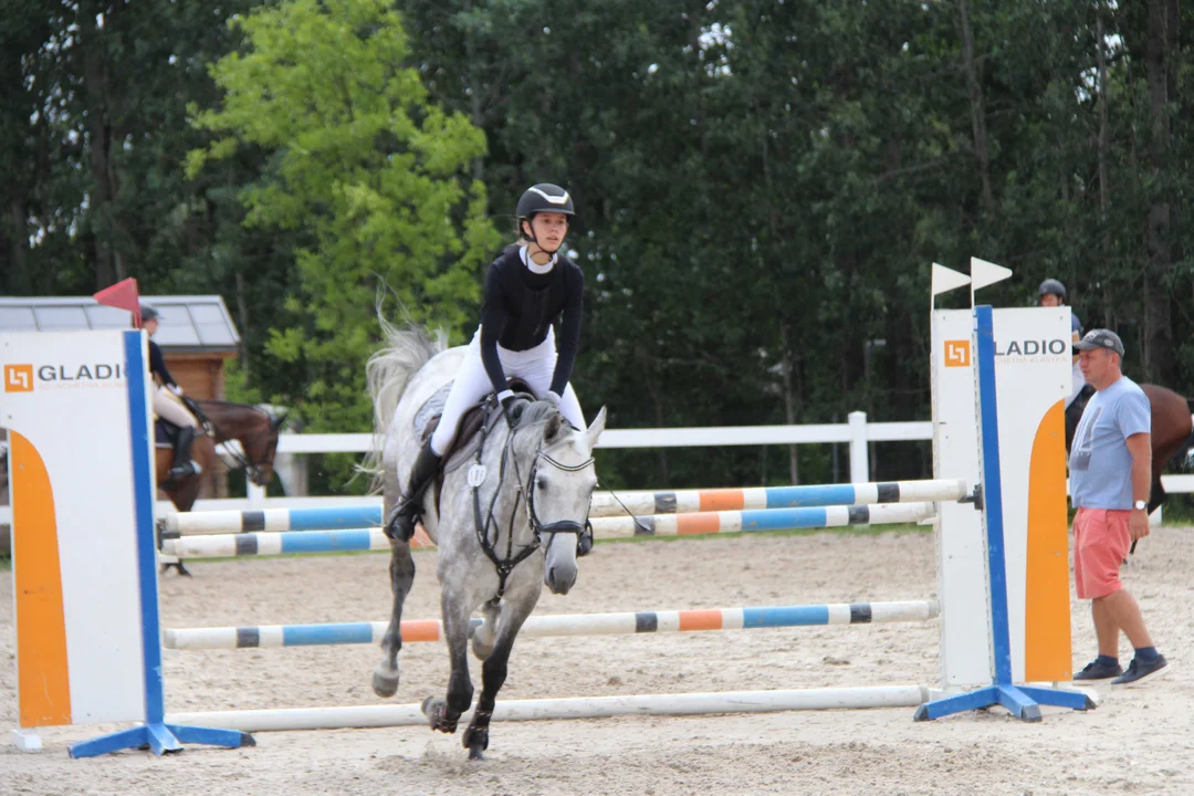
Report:
[[[1169,669],[1119,576],[1132,543],[1149,535],[1152,408],[1144,390],[1120,370],[1124,343],[1118,334],[1094,329],[1073,347],[1087,383],[1096,390],[1070,449],[1070,494],[1078,510],[1073,581],[1078,599],[1091,600],[1098,638],[1098,658],[1073,679],[1139,685]],[[1135,649],[1127,672],[1119,665],[1121,630]]]

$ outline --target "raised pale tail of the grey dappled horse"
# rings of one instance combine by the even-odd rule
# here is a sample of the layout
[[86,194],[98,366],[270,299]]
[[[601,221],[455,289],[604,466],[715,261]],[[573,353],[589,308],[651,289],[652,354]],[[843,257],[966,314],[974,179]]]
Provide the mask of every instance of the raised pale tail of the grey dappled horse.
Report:
[[365,363],[365,382],[374,407],[374,445],[359,469],[373,475],[373,490],[381,488],[382,443],[411,378],[423,365],[448,348],[448,333],[416,323],[399,328],[377,314],[384,345]]

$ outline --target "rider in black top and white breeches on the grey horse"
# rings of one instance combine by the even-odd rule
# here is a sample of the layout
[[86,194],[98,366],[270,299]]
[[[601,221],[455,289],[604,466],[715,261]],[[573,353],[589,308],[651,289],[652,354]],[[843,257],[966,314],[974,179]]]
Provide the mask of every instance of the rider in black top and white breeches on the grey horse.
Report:
[[584,274],[560,253],[573,214],[572,197],[550,183],[533,185],[518,199],[519,241],[490,265],[481,325],[448,393],[439,425],[419,451],[387,518],[386,532],[393,538],[414,535],[423,495],[470,406],[496,393],[510,425],[517,426],[523,405],[507,385],[510,377],[524,380],[536,397],[555,403],[565,420],[585,427],[580,402],[568,384],[580,344]]

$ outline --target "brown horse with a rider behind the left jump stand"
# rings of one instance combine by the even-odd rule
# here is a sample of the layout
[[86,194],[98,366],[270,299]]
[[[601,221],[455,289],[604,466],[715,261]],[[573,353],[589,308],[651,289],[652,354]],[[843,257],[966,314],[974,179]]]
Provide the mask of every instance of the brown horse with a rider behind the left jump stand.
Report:
[[[241,452],[228,449],[238,468],[244,468],[250,481],[259,487],[270,483],[273,477],[273,456],[278,450],[278,430],[285,422],[287,415],[275,418],[269,412],[247,403],[228,401],[195,401],[198,406],[204,428],[195,437],[191,456],[203,468],[198,475],[172,480],[170,468],[174,463],[173,448],[156,450],[158,487],[166,493],[174,508],[191,511],[199,496],[204,479],[210,479],[216,471],[220,456],[216,445],[236,440]],[[180,575],[189,575],[186,567],[179,561],[176,566]],[[167,568],[168,568],[167,566]]]

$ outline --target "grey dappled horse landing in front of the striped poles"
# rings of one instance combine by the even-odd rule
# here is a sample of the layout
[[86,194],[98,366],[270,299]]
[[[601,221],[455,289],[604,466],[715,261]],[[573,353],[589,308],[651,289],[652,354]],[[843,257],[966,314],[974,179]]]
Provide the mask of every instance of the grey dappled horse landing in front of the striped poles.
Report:
[[[383,437],[380,463],[382,517],[398,501],[414,463],[426,422],[463,360],[466,348],[447,348],[418,327],[400,331],[382,322],[387,346],[369,359],[375,434]],[[488,727],[515,636],[538,601],[543,584],[566,594],[577,580],[577,544],[597,486],[592,449],[605,427],[605,409],[585,430],[572,428],[547,401],[528,406],[511,432],[500,411],[480,433],[444,461],[441,489],[427,489],[423,526],[439,549],[437,576],[451,674],[445,698],[427,697],[423,712],[432,729],[455,733],[473,702],[468,673],[469,618],[482,609],[473,634],[481,666],[481,696],[462,742],[469,758],[488,747]],[[394,611],[382,638],[373,689],[398,691],[402,648],[402,603],[414,580],[410,542],[392,539],[389,564]]]

